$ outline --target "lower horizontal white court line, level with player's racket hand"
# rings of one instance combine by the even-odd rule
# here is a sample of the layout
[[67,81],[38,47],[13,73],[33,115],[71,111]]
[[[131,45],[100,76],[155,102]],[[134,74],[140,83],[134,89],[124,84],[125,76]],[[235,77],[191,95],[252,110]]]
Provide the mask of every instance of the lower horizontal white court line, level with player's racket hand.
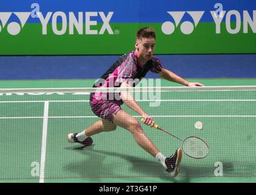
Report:
[[[136,118],[141,118],[141,116],[133,116]],[[256,115],[152,115],[151,117],[153,118],[192,118],[192,117],[209,117],[209,118],[221,118],[221,117],[226,117],[226,118],[255,118]],[[43,118],[45,122],[45,117],[42,116],[25,116],[25,117],[0,117],[0,119],[38,119],[38,118]],[[48,116],[48,118],[98,118],[98,116]],[[47,122],[47,121],[46,121]],[[47,128],[47,127],[46,127]],[[47,130],[47,129],[46,129]]]

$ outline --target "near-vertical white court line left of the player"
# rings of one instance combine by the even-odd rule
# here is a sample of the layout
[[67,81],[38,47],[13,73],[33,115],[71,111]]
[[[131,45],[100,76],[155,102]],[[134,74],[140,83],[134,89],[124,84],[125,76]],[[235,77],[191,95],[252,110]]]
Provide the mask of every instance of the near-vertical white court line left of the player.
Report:
[[43,136],[42,136],[39,183],[45,182],[45,155],[46,155],[46,141],[47,141],[48,112],[49,112],[49,102],[45,101],[45,108],[43,110]]

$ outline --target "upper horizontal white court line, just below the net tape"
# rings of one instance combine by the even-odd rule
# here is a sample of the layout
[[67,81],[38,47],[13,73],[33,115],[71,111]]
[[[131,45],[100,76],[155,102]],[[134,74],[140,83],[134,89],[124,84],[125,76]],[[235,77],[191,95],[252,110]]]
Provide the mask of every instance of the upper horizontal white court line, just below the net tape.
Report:
[[[256,102],[256,99],[137,99],[137,102]],[[0,101],[0,103],[32,103],[45,101]],[[56,100],[48,102],[90,102],[89,100]]]

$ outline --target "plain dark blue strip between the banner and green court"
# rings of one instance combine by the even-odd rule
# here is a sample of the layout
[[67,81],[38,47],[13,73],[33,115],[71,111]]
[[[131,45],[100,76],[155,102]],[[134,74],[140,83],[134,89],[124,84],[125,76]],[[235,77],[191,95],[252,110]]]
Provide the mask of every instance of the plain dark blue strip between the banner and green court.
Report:
[[[0,79],[98,79],[119,55],[0,56]],[[256,78],[256,54],[156,55],[185,78]],[[148,73],[147,77],[156,78]]]

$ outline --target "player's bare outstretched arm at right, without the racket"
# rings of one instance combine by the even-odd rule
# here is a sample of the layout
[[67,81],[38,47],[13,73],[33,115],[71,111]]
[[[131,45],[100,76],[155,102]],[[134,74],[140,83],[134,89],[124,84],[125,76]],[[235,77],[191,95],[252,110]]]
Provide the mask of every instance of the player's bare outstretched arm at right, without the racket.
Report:
[[177,74],[172,73],[172,71],[169,71],[168,69],[165,69],[165,68],[162,68],[161,72],[159,72],[158,75],[163,79],[169,80],[171,82],[180,83],[181,85],[186,85],[188,87],[196,87],[196,86],[203,87],[203,86],[205,86],[202,83],[198,83],[198,82],[188,82],[188,80],[181,78]]

